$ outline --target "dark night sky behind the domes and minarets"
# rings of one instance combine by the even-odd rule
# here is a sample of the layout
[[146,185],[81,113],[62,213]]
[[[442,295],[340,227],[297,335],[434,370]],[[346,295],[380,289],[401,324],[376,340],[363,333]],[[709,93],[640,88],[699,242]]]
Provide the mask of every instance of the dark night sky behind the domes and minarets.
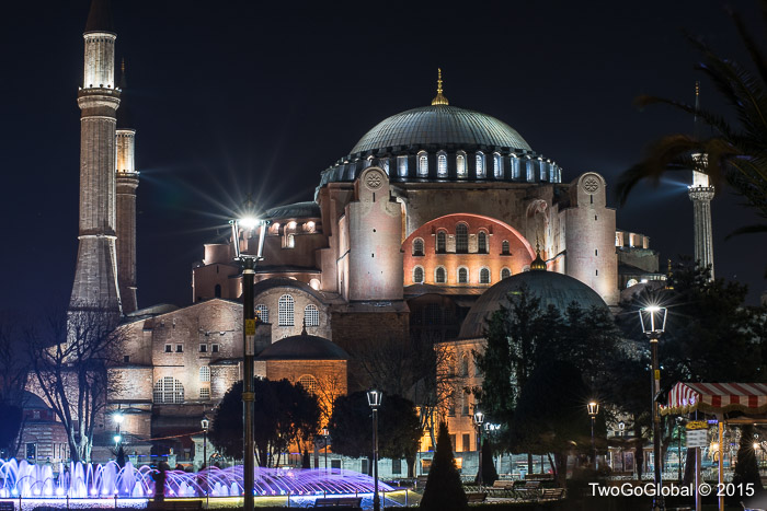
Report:
[[[0,310],[66,303],[77,256],[82,32],[89,0],[13,2],[0,24]],[[756,1],[731,4],[759,34]],[[114,2],[136,136],[139,306],[191,302],[203,243],[253,194],[263,208],[313,198],[320,172],[384,118],[428,105],[437,67],[451,105],[514,127],[563,167],[603,174],[608,191],[661,135],[691,118],[641,93],[726,113],[683,30],[745,61],[718,2]],[[618,228],[651,236],[661,258],[692,253],[692,206],[678,175],[640,187]],[[613,185],[613,186],[610,186]],[[615,197],[610,201],[616,205]],[[718,277],[767,281],[764,236],[719,189]]]

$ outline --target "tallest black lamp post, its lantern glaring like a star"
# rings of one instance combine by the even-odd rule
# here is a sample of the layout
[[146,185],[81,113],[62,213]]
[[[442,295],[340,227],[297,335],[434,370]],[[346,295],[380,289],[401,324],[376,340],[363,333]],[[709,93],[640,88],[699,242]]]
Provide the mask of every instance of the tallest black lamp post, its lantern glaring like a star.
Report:
[[[242,435],[243,435],[243,463],[242,463],[242,492],[244,511],[253,511],[253,487],[255,486],[255,463],[253,460],[253,358],[255,357],[255,311],[253,309],[253,280],[255,277],[255,264],[263,259],[264,237],[266,236],[266,222],[252,218],[231,220],[232,246],[234,247],[234,260],[242,268]],[[240,252],[240,229],[243,237],[248,233],[261,227],[256,254],[243,254]]]

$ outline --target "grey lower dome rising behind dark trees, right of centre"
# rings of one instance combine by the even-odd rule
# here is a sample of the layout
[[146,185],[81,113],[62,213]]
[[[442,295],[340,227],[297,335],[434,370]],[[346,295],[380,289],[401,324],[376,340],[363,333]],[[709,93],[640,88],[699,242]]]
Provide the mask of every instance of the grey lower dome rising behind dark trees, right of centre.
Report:
[[553,305],[564,313],[575,302],[582,309],[595,306],[607,310],[607,304],[596,291],[569,275],[542,270],[524,271],[501,280],[482,293],[463,320],[459,338],[483,337],[490,315],[501,309],[501,304],[508,305],[507,295],[523,287],[527,287],[540,299],[541,309]]

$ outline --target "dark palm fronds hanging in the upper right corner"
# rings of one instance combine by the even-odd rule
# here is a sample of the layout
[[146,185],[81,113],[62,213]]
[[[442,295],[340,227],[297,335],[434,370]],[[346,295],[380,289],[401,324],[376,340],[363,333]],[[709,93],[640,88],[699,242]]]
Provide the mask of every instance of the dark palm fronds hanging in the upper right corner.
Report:
[[[760,0],[767,23],[767,0]],[[688,39],[700,51],[702,61],[697,69],[713,82],[717,91],[732,106],[739,125],[731,126],[724,117],[672,100],[640,96],[637,104],[666,104],[697,116],[712,132],[709,138],[669,135],[657,140],[644,160],[626,171],[618,182],[617,191],[621,204],[631,189],[642,179],[657,183],[661,175],[669,171],[696,170],[709,175],[713,184],[726,183],[745,199],[764,223],[745,225],[735,234],[767,232],[767,59],[745,28],[741,18],[730,12],[737,32],[748,50],[756,76],[740,63],[720,57],[698,38]],[[707,159],[694,158],[706,154]],[[767,275],[766,275],[767,277]]]

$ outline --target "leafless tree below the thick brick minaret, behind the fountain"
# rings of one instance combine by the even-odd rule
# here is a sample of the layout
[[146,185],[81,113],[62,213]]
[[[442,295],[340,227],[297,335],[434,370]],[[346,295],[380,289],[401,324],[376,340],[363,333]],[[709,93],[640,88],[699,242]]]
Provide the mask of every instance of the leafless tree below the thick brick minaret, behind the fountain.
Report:
[[93,431],[106,407],[107,367],[121,350],[119,316],[100,307],[57,314],[30,333],[33,390],[67,431],[71,460],[90,461]]

